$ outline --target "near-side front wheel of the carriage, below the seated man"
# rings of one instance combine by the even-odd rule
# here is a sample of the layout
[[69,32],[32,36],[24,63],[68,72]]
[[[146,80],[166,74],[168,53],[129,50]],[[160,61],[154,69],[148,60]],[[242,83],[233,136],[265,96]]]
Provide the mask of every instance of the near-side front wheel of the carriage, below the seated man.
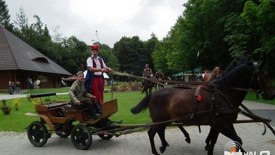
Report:
[[90,129],[82,124],[75,125],[71,132],[71,140],[77,149],[88,149],[92,144]]

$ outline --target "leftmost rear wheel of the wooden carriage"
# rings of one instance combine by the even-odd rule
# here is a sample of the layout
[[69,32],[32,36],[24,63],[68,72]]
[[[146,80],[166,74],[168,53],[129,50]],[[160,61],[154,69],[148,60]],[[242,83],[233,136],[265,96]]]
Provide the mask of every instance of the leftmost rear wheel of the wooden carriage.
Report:
[[43,146],[48,140],[48,131],[46,126],[38,121],[32,122],[28,126],[28,138],[34,146]]

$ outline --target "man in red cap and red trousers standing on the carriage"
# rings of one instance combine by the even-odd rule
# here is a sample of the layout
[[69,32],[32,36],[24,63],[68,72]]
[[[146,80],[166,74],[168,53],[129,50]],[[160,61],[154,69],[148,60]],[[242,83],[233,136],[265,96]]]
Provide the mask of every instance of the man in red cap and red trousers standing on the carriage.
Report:
[[102,58],[98,56],[99,45],[91,46],[92,55],[87,59],[87,75],[85,77],[85,87],[88,92],[96,96],[99,103],[104,101],[104,72],[112,72],[113,69],[107,67]]

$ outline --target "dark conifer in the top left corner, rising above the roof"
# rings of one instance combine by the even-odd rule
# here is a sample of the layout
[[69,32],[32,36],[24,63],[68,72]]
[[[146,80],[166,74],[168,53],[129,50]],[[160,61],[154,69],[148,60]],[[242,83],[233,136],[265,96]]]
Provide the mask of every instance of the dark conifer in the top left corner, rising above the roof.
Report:
[[8,5],[4,0],[0,0],[0,25],[12,31],[13,25],[10,23],[10,18]]

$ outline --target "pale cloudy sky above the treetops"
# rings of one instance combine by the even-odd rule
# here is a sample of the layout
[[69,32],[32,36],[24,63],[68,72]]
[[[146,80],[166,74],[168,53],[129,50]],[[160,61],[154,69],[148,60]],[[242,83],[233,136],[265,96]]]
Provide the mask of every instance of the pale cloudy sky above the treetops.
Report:
[[[11,21],[23,8],[29,24],[40,17],[53,35],[59,27],[62,37],[76,36],[88,45],[99,40],[110,47],[123,36],[146,41],[155,33],[166,37],[182,15],[187,0],[5,0]],[[97,31],[97,34],[96,34]],[[94,40],[94,41],[92,41]]]

